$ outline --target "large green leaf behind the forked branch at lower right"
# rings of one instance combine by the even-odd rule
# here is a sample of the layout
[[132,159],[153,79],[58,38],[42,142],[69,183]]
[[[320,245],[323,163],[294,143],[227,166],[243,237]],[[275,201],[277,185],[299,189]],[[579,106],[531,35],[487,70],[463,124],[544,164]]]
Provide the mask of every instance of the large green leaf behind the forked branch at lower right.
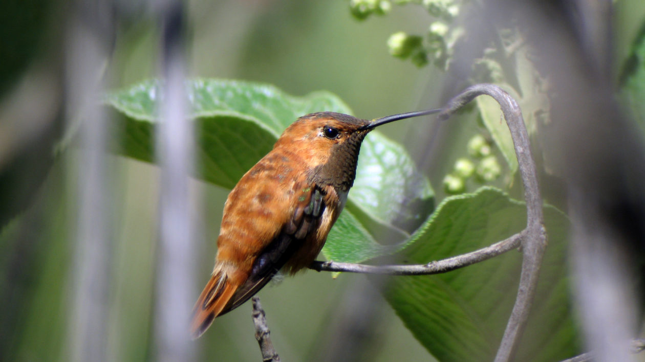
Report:
[[[566,280],[568,220],[545,207],[549,244],[518,361],[559,361],[579,352]],[[446,198],[401,252],[428,263],[474,251],[524,229],[526,207],[490,187]],[[517,294],[521,253],[446,274],[393,278],[384,292],[415,337],[441,361],[491,361]]]

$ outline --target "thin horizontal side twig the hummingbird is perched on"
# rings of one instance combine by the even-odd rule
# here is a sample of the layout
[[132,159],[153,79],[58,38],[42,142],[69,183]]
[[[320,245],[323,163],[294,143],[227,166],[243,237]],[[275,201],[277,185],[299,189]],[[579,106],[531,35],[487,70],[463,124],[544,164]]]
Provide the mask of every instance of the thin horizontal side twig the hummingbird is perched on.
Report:
[[474,263],[483,262],[504,252],[519,247],[524,234],[517,233],[506,240],[494,243],[477,251],[452,256],[435,262],[421,265],[365,265],[353,263],[318,262],[315,261],[309,266],[315,271],[328,272],[360,272],[363,274],[387,274],[387,275],[430,275],[441,274],[467,267]]

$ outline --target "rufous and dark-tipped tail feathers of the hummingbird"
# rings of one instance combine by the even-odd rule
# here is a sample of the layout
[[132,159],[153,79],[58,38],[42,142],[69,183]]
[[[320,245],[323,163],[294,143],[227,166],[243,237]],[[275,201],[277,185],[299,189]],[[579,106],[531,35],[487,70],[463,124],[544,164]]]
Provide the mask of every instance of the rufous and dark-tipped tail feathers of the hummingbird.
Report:
[[222,269],[213,272],[193,307],[193,318],[190,323],[192,339],[197,339],[206,332],[213,323],[213,319],[226,307],[238,286],[238,283],[230,280]]

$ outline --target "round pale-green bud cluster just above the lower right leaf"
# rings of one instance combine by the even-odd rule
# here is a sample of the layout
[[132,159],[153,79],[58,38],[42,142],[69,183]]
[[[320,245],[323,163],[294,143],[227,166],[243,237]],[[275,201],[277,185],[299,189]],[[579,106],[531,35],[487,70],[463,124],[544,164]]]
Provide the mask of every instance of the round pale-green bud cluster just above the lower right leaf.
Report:
[[444,191],[450,195],[464,193],[466,180],[474,176],[476,182],[484,183],[497,180],[502,167],[492,154],[492,146],[482,135],[475,135],[468,141],[468,155],[455,161],[453,169],[444,177]]

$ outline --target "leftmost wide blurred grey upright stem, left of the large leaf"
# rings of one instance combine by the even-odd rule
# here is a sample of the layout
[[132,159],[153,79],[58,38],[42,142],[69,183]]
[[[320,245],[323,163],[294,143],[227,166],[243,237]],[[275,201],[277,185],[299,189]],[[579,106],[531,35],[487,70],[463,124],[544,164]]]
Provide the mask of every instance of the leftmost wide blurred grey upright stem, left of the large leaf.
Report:
[[[106,182],[106,115],[96,100],[103,90],[102,66],[112,34],[110,3],[77,1],[68,29],[66,82],[67,118],[80,119],[81,161],[77,175],[78,217],[71,269],[73,281],[69,348],[71,361],[105,361],[110,238]],[[103,14],[103,15],[102,15]],[[91,25],[91,26],[90,26]]]

